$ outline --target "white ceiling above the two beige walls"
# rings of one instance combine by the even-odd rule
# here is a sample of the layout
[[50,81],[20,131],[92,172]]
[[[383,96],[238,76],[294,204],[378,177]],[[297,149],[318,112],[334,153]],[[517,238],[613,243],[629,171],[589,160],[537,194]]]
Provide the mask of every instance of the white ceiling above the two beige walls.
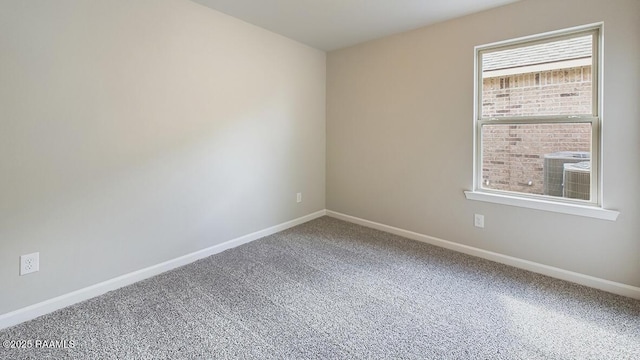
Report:
[[192,0],[331,51],[519,0]]

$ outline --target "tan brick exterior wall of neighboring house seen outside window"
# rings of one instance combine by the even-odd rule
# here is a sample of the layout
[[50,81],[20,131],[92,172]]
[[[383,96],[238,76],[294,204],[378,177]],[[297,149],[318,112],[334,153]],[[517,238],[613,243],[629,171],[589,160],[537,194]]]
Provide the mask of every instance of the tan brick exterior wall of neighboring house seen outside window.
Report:
[[[589,114],[591,67],[485,78],[482,95],[485,117]],[[486,125],[482,148],[485,188],[542,194],[544,155],[590,151],[591,125]]]

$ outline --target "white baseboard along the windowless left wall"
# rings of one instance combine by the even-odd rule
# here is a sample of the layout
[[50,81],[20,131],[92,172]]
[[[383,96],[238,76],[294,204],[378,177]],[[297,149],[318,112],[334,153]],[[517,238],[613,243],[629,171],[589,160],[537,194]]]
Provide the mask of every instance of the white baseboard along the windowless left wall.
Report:
[[307,221],[319,218],[321,216],[326,215],[326,210],[316,211],[312,214],[305,215],[299,217],[297,219],[284,222],[282,224],[278,224],[272,226],[270,228],[253,232],[251,234],[247,234],[229,241],[226,241],[222,244],[214,245],[208,247],[206,249],[202,249],[184,256],[177,257],[172,260],[165,261],[160,264],[152,265],[144,269],[140,269],[128,274],[124,274],[118,276],[116,278],[103,281],[101,283],[88,286],[83,289],[79,289],[64,295],[57,296],[55,298],[45,300],[43,302],[33,304],[6,314],[0,315],[0,330],[7,328],[9,326],[14,326],[19,323],[35,319],[39,316],[51,313],[58,309],[65,308],[67,306],[79,303],[81,301],[85,301],[91,299],[93,297],[102,295],[108,291],[112,291],[140,280],[144,280],[150,278],[152,276],[158,275],[165,271],[169,271],[171,269],[175,269],[177,267],[190,264],[196,260],[200,260],[202,258],[211,256],[213,254],[220,253],[227,249],[231,249],[242,244],[246,244],[253,240],[257,240],[259,238],[269,236],[271,234],[275,234],[279,231],[286,230],[288,228],[294,227],[296,225],[300,225]]

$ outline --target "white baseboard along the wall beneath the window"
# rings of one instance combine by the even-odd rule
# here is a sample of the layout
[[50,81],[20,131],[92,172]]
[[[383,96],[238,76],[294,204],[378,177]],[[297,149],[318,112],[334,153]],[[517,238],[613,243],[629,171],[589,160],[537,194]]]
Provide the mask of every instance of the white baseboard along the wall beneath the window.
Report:
[[398,236],[402,236],[408,239],[417,240],[420,242],[428,243],[431,245],[443,247],[449,250],[461,252],[467,255],[476,256],[479,258],[495,261],[501,264],[510,265],[524,270],[529,270],[538,274],[547,275],[557,279],[566,280],[576,284],[588,286],[595,289],[604,290],[613,294],[627,296],[634,299],[640,299],[640,287],[626,285],[615,281],[600,279],[594,276],[584,275],[577,272],[560,269],[553,266],[539,264],[529,260],[523,260],[516,257],[495,253],[492,251],[478,249],[472,246],[462,245],[447,240],[442,240],[433,236],[427,236],[419,234],[413,231],[408,231],[400,228],[396,228],[389,225],[380,224],[377,222],[357,218],[351,215],[341,214],[335,211],[327,210],[327,215],[336,219],[348,221],[354,224],[366,226],[372,229],[381,230]]

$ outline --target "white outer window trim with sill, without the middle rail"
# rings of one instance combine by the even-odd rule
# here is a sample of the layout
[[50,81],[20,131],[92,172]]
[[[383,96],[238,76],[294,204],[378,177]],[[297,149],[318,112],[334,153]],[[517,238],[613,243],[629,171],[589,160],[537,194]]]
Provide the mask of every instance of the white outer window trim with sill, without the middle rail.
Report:
[[[567,201],[566,199],[545,199],[544,196],[527,196],[527,194],[513,193],[506,191],[492,191],[489,189],[483,189],[481,187],[480,181],[482,174],[478,172],[479,166],[479,154],[481,153],[481,144],[479,140],[479,103],[480,103],[480,94],[479,94],[479,84],[481,81],[481,74],[478,73],[478,56],[481,50],[486,50],[492,47],[503,47],[508,46],[510,44],[519,44],[525,41],[534,41],[552,38],[556,36],[562,35],[570,35],[572,33],[584,32],[589,30],[598,30],[599,36],[597,39],[598,52],[597,56],[594,57],[594,63],[597,64],[598,72],[595,74],[594,81],[596,82],[595,87],[597,88],[597,98],[594,97],[593,106],[597,109],[597,118],[598,121],[595,123],[592,128],[592,151],[595,152],[598,156],[592,156],[595,158],[595,161],[592,162],[593,168],[597,169],[597,176],[592,176],[592,186],[595,189],[592,189],[592,194],[595,194],[595,199],[592,202],[583,202],[583,201]],[[465,191],[465,197],[468,200],[475,201],[484,201],[495,204],[502,204],[508,206],[517,206],[529,209],[536,209],[542,211],[550,211],[562,214],[570,214],[577,216],[585,216],[603,220],[615,221],[620,214],[615,210],[608,210],[602,207],[602,69],[603,69],[603,23],[589,24],[585,26],[575,27],[571,29],[564,29],[554,32],[548,32],[544,34],[538,34],[533,36],[527,36],[517,39],[510,39],[503,42],[497,42],[487,45],[476,46],[474,48],[474,110],[473,110],[473,190]],[[594,94],[596,95],[596,94]],[[506,120],[506,119],[505,119]],[[595,191],[594,191],[595,190]]]

